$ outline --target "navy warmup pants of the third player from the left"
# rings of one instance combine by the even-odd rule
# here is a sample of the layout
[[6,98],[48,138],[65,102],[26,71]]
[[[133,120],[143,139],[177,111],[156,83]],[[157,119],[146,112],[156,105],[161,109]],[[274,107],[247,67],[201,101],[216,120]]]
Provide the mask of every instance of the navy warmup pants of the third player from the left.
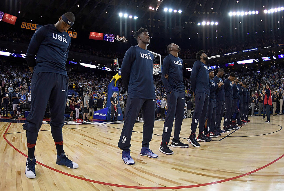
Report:
[[[174,123],[174,140],[179,140],[181,132],[181,124],[183,122],[185,93],[176,92],[167,93],[168,110],[167,117],[164,122],[164,131],[162,142],[169,142],[172,134],[172,126]],[[175,121],[174,121],[175,118]]]

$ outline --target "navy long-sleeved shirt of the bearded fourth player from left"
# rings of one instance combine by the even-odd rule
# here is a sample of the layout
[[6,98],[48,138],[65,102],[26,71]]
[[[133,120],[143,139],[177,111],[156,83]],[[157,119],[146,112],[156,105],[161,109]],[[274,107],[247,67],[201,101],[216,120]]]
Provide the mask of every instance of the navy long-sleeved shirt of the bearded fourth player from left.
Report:
[[190,75],[192,92],[210,95],[209,68],[200,60],[194,62]]

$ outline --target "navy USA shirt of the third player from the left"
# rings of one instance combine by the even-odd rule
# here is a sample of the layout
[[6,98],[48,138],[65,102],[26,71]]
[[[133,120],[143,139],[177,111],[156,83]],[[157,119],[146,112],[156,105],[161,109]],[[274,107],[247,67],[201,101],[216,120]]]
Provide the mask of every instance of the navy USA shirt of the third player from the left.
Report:
[[[168,74],[168,80],[164,77]],[[180,93],[184,93],[183,85],[183,60],[179,57],[169,54],[163,60],[162,68],[162,82],[165,86],[166,92],[175,90]]]

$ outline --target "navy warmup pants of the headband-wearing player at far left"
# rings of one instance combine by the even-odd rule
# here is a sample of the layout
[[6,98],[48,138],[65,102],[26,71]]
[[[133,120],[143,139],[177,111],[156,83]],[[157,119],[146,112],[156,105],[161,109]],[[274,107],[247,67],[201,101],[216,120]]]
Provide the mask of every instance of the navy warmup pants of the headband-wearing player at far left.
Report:
[[34,96],[32,96],[30,113],[27,116],[27,122],[23,124],[23,129],[32,133],[39,132],[46,105],[49,103],[51,133],[53,129],[61,129],[62,132],[68,81],[69,78],[65,75],[34,71],[31,84]]

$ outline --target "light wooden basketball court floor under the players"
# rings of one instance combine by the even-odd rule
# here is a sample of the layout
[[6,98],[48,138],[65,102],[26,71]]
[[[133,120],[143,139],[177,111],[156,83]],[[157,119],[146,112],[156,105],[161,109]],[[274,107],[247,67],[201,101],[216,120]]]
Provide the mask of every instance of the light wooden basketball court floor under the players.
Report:
[[[135,123],[131,156],[134,165],[121,160],[117,147],[123,124],[64,125],[63,145],[69,158],[79,164],[70,169],[57,165],[50,126],[39,132],[35,179],[25,175],[26,132],[23,123],[0,123],[0,190],[210,190],[268,191],[284,188],[284,116],[251,117],[236,131],[201,142],[201,147],[171,148],[159,152],[164,121],[156,121],[151,159],[140,156],[142,125]],[[184,119],[181,139],[187,143],[192,119]],[[172,133],[173,135],[173,133]]]

